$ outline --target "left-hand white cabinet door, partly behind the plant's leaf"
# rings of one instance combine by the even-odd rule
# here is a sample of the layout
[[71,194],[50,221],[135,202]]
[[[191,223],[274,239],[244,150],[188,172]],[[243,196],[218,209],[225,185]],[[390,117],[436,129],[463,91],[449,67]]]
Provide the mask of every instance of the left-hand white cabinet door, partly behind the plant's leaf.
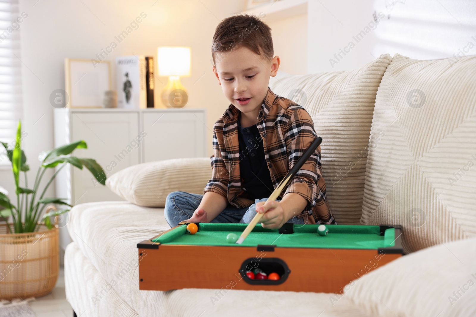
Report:
[[[84,140],[88,149],[77,149],[75,156],[95,159],[106,177],[140,163],[141,142],[139,114],[137,112],[71,113],[71,142]],[[140,136],[140,135],[139,135]],[[122,201],[105,185],[97,183],[92,174],[83,167],[72,167],[72,202]]]

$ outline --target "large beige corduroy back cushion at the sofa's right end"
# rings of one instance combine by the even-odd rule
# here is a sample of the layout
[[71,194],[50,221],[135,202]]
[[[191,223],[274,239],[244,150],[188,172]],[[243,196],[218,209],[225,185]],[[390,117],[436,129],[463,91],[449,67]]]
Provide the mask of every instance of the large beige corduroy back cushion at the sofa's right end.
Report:
[[370,134],[362,224],[401,224],[405,252],[476,236],[476,55],[396,54]]

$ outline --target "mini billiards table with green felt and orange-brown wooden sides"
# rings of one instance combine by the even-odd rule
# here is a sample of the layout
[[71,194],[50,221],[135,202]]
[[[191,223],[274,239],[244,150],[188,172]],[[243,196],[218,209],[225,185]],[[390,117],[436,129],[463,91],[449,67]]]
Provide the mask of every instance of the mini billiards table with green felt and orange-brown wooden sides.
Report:
[[[399,225],[286,223],[279,230],[256,225],[242,244],[228,243],[247,224],[199,223],[190,234],[178,225],[137,244],[139,289],[223,288],[342,293],[343,287],[403,255]],[[278,279],[250,279],[260,269]],[[276,276],[276,274],[274,275]]]

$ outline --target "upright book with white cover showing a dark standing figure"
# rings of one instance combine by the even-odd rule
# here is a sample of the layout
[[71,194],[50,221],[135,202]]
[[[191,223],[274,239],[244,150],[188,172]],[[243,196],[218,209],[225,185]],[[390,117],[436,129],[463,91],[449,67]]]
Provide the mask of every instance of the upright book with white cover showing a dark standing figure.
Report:
[[116,57],[118,108],[147,108],[146,57]]

